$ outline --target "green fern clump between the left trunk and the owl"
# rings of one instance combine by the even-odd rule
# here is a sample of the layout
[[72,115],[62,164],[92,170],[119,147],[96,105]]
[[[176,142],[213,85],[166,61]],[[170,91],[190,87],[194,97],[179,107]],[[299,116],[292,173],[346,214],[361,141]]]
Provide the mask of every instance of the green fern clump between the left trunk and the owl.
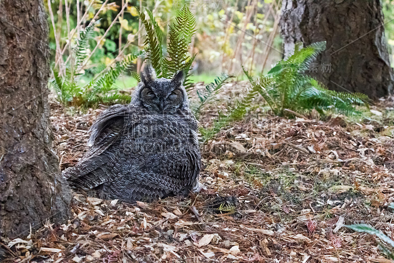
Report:
[[116,78],[129,69],[132,61],[141,55],[136,52],[127,55],[121,62],[100,72],[88,84],[79,85],[79,76],[82,75],[82,65],[88,57],[88,42],[93,38],[94,27],[97,23],[81,31],[80,38],[72,48],[71,62],[66,66],[63,75],[53,67],[53,79],[50,80],[58,100],[64,105],[89,107],[94,104],[112,104],[130,102],[130,95],[119,93],[113,83]]

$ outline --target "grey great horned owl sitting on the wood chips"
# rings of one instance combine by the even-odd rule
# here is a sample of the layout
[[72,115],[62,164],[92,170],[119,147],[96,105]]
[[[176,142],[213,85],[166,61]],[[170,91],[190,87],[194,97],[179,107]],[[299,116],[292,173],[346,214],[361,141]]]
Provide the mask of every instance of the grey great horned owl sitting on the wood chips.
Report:
[[145,66],[131,103],[108,108],[91,127],[90,149],[63,172],[70,185],[128,202],[197,191],[197,120],[183,79],[156,78]]

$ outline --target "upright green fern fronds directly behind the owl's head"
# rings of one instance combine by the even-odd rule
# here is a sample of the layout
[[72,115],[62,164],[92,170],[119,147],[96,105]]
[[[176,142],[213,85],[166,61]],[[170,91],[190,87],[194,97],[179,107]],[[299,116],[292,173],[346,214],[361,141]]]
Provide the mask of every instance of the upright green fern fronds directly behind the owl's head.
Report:
[[[138,9],[137,9],[138,10]],[[178,71],[185,71],[185,88],[189,91],[193,87],[190,81],[190,69],[196,55],[189,55],[189,46],[192,42],[193,35],[196,33],[196,18],[185,4],[178,12],[175,23],[168,28],[167,38],[168,45],[166,47],[167,56],[164,56],[163,50],[165,45],[163,42],[163,32],[152,12],[146,10],[149,16],[147,20],[144,12],[139,10],[138,16],[146,31],[145,51],[146,60],[148,60],[155,69],[159,77],[171,77]],[[133,74],[135,77],[135,74]]]

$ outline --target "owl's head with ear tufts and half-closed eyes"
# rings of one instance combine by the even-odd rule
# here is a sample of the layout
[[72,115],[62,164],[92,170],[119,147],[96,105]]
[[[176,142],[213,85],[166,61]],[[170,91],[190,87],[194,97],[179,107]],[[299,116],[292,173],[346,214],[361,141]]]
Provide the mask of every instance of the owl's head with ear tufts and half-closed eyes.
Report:
[[182,85],[185,74],[181,71],[172,79],[156,78],[150,65],[141,72],[139,85],[140,106],[151,112],[174,113],[177,109],[188,107],[188,97]]

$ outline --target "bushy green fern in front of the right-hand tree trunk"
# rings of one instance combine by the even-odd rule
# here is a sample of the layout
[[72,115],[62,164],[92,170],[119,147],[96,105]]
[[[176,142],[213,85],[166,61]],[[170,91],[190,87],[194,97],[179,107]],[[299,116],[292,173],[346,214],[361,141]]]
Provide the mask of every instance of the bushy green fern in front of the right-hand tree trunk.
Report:
[[333,109],[346,115],[361,114],[354,105],[367,105],[368,97],[361,93],[336,92],[328,90],[316,79],[305,75],[317,55],[326,49],[326,42],[313,43],[301,48],[297,43],[293,55],[279,61],[269,72],[272,84],[262,85],[259,80],[244,70],[252,86],[259,87],[259,92],[277,115],[292,115],[292,112],[304,113],[316,109],[319,113]]

